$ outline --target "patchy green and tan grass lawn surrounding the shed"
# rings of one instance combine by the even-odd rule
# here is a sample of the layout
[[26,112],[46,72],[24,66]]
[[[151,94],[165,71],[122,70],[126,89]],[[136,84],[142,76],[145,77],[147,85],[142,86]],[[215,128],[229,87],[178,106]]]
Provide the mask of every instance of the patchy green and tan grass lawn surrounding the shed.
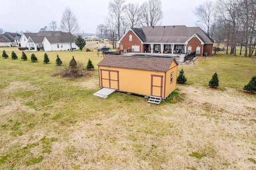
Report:
[[[158,106],[121,92],[93,96],[100,90],[97,50],[49,51],[48,64],[44,51],[34,52],[32,63],[30,51],[23,61],[18,47],[3,50],[9,58],[0,57],[0,169],[256,168],[256,95],[242,93],[256,75],[255,58],[218,53],[180,65],[188,82]],[[57,54],[85,66],[90,59],[93,76],[53,76]],[[219,90],[208,88],[215,72]]]

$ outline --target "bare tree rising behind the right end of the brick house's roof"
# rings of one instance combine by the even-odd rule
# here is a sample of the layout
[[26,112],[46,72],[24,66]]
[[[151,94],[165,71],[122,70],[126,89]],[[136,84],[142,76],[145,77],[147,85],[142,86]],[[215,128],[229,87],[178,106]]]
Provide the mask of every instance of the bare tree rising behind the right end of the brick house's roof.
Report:
[[216,8],[215,3],[212,1],[203,2],[199,6],[196,6],[194,14],[198,18],[196,25],[212,37],[218,14],[218,8]]

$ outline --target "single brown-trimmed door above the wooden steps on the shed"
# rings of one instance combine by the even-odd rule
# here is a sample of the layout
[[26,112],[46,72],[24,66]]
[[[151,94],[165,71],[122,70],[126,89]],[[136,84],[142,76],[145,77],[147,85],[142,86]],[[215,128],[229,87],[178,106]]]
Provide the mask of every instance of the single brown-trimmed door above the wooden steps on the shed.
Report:
[[151,96],[162,97],[163,76],[151,75]]

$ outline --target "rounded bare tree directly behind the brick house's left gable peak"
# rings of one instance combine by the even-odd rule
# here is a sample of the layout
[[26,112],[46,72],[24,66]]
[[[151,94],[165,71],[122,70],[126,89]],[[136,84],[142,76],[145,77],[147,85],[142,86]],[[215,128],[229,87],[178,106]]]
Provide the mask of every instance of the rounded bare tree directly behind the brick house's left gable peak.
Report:
[[140,11],[140,6],[138,3],[131,4],[129,3],[124,10],[126,14],[126,19],[130,22],[130,27],[134,28],[137,25],[140,18],[142,18],[142,14]]

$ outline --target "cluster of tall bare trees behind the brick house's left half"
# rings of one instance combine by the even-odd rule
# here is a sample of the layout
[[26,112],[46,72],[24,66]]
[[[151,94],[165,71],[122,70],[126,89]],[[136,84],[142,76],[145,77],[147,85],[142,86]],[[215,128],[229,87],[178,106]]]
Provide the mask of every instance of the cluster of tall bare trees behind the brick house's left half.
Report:
[[157,26],[162,18],[161,0],[148,0],[142,5],[126,4],[126,0],[111,0],[106,22],[97,26],[96,34],[100,39],[108,37],[115,49],[117,41],[129,28]]

